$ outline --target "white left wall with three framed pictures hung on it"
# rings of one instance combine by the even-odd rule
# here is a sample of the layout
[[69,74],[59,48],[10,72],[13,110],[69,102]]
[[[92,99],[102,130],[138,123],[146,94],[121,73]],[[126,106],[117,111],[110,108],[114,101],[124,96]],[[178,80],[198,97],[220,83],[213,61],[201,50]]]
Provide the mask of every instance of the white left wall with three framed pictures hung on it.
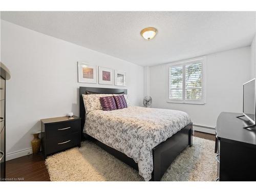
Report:
[[[123,88],[133,104],[143,99],[143,67],[2,20],[6,88],[7,159],[31,152],[30,135],[42,118],[79,115],[79,86]],[[77,61],[126,71],[127,87],[77,82]],[[16,153],[17,152],[17,153]]]

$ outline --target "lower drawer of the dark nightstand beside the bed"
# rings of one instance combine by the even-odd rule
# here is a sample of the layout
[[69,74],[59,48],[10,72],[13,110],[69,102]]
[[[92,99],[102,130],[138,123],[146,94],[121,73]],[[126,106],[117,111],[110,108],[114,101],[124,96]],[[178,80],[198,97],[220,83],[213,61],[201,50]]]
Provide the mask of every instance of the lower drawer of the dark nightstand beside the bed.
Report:
[[59,151],[66,150],[68,148],[79,145],[80,133],[73,133],[67,136],[56,137],[54,139],[49,139],[47,146],[47,154],[56,153]]

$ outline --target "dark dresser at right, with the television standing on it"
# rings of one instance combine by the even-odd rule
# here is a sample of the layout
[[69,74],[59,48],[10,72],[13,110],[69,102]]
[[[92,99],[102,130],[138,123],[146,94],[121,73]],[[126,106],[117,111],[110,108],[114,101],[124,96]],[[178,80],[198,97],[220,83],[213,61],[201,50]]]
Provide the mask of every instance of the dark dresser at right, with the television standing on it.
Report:
[[216,126],[219,181],[256,181],[256,127],[241,113],[222,112]]

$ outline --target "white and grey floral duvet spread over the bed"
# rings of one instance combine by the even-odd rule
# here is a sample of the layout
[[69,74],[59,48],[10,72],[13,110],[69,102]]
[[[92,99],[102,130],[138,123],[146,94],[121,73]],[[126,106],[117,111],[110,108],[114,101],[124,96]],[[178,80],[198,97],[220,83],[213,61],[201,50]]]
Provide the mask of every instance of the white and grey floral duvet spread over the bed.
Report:
[[148,181],[153,171],[152,149],[190,123],[185,112],[129,106],[114,111],[91,111],[84,133],[131,157]]

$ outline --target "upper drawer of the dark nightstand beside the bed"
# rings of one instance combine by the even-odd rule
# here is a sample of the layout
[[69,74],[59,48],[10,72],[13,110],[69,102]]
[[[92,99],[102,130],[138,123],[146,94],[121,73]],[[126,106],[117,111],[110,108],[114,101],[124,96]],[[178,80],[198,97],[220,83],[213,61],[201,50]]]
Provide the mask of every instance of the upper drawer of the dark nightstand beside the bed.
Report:
[[66,136],[80,131],[80,121],[65,121],[47,124],[45,129],[47,130],[47,139],[56,138],[60,136]]

